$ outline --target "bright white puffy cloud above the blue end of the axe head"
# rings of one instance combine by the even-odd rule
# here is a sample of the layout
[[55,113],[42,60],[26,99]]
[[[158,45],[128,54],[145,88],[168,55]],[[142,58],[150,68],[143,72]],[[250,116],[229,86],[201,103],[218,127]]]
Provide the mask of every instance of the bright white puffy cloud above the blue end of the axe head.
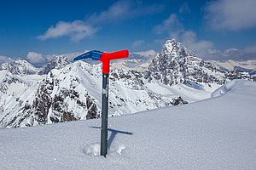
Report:
[[73,41],[79,41],[84,37],[90,37],[96,33],[98,29],[94,28],[82,20],[74,20],[73,22],[58,22],[55,26],[49,29],[38,37],[39,40],[46,40],[49,38],[70,37]]

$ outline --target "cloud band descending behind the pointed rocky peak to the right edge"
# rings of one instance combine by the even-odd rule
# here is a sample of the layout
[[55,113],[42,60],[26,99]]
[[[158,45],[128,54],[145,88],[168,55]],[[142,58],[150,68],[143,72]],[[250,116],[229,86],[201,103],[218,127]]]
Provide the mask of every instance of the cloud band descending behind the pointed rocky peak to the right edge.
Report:
[[[154,26],[154,31],[156,33],[168,32],[168,38],[174,38],[177,42],[182,42],[186,48],[202,59],[256,59],[256,45],[241,49],[219,50],[212,41],[198,39],[195,31],[186,30],[176,14],[171,14],[160,25]],[[164,43],[162,40],[155,40],[155,43],[157,42]]]

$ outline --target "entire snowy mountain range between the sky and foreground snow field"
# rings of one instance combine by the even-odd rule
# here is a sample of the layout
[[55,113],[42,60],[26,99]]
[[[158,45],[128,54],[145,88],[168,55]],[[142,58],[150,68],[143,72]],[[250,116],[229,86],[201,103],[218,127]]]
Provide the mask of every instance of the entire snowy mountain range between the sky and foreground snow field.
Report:
[[[166,41],[160,54],[133,53],[112,65],[109,116],[183,105],[209,98],[232,79],[253,80],[253,69],[237,65],[241,67],[230,69],[217,61],[204,61],[175,40]],[[0,127],[98,118],[101,92],[97,63],[71,63],[66,55],[55,55],[42,68],[25,60],[4,63],[0,65]]]

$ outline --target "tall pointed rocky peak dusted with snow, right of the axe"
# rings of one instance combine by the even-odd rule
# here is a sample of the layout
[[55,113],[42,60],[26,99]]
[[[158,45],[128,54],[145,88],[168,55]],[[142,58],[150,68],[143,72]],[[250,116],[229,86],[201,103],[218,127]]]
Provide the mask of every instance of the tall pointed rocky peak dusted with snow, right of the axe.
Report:
[[167,40],[160,54],[157,54],[145,71],[144,77],[159,80],[167,85],[189,82],[211,82],[223,84],[225,76],[211,63],[195,57],[175,40]]

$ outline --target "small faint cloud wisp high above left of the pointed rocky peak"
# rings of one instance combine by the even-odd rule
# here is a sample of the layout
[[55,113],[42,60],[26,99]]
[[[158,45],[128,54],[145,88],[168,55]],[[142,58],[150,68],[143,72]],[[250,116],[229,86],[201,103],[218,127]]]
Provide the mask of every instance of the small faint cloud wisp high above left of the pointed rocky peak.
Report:
[[173,28],[182,28],[181,23],[177,19],[177,14],[170,14],[170,16],[164,20],[160,25],[154,26],[153,31],[156,33],[162,33],[165,31],[171,31]]

